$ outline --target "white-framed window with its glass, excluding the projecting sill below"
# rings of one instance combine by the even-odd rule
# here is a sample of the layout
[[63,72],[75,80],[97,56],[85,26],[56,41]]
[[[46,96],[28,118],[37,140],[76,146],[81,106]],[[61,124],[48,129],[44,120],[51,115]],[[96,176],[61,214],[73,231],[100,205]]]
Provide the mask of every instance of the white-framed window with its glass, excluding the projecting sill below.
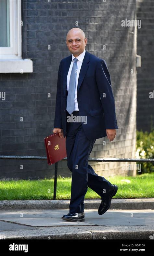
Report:
[[0,1],[0,58],[21,59],[21,1]]

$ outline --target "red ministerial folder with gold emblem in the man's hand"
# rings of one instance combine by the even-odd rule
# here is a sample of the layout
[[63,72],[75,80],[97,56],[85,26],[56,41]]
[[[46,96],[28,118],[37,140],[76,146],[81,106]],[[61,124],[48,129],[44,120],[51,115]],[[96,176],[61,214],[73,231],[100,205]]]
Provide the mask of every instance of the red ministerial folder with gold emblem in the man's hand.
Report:
[[60,138],[59,133],[54,133],[46,137],[44,140],[47,162],[49,165],[54,164],[67,157],[66,137],[64,138],[64,135],[62,138]]

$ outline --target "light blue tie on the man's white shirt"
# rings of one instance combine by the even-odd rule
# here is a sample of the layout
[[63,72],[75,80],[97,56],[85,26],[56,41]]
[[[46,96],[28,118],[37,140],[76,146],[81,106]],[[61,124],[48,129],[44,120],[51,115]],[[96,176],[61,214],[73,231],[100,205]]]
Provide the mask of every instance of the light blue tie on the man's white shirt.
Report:
[[76,87],[76,74],[77,74],[77,61],[78,59],[74,58],[73,67],[71,70],[70,82],[69,82],[69,92],[67,96],[67,107],[66,110],[71,113],[74,111],[74,97],[75,97],[75,87]]

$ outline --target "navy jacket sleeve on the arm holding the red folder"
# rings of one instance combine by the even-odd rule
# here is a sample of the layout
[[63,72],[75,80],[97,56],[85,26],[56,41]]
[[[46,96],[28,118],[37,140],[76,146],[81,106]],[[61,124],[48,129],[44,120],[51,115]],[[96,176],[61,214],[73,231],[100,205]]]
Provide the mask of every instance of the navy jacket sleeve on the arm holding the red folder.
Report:
[[54,128],[63,129],[62,128],[62,118],[61,118],[61,87],[60,87],[60,81],[61,81],[61,62],[59,64],[59,69],[58,69]]

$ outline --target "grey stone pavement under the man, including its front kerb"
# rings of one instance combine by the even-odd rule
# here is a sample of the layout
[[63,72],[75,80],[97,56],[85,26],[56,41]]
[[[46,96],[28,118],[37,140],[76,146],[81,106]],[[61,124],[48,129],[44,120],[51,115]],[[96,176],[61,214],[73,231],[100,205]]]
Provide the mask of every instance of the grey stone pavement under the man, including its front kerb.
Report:
[[85,222],[62,220],[69,209],[0,210],[0,239],[150,239],[154,210],[85,209]]

